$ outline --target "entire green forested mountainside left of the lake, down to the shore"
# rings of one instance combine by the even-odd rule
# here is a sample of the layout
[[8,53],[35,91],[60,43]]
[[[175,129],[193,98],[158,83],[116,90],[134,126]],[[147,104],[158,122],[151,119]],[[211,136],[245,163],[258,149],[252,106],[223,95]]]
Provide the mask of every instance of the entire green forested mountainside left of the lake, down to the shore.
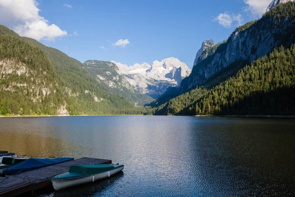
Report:
[[125,114],[134,106],[109,93],[79,61],[0,26],[0,109],[9,114]]

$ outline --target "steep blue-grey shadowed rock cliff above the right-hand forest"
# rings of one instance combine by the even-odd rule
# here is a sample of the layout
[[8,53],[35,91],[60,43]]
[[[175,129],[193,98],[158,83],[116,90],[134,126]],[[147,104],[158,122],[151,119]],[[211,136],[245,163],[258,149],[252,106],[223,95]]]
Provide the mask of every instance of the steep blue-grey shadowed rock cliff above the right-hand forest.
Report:
[[294,26],[294,17],[267,12],[262,19],[237,28],[226,41],[205,49],[201,56],[206,55],[198,59],[191,75],[182,81],[180,91],[206,83],[228,66],[240,61],[251,63],[273,48],[288,44],[288,40],[294,37]]

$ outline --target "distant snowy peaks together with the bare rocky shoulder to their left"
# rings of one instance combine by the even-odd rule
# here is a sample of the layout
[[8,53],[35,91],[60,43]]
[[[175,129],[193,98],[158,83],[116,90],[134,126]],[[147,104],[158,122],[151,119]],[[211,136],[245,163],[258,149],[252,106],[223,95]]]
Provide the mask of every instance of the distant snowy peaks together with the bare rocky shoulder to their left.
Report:
[[179,86],[191,73],[191,69],[177,58],[154,61],[151,66],[147,63],[127,66],[114,61],[87,61],[84,64],[100,70],[95,75],[97,80],[110,88],[123,91],[124,87],[152,98],[158,98],[170,87]]

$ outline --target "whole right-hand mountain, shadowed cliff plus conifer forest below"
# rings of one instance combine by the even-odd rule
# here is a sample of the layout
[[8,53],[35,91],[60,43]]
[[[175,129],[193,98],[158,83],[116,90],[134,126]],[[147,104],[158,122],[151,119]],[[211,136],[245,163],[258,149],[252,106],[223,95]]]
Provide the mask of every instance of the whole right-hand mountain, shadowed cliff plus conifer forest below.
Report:
[[[162,103],[161,100],[153,101],[151,105],[152,113],[156,115],[285,114],[288,111],[290,114],[293,111],[294,114],[294,102],[292,100],[294,100],[295,95],[291,93],[294,92],[295,87],[295,2],[280,3],[267,11],[260,20],[238,27],[230,35],[229,39],[209,47],[203,52],[203,56],[201,55],[202,57],[199,58],[199,63],[193,67],[191,75],[195,74],[196,76],[196,73],[198,74],[196,70],[199,69],[212,69],[208,65],[216,55],[217,59],[227,58],[226,60],[228,60],[227,53],[231,51],[227,51],[228,47],[231,46],[229,42],[235,41],[236,38],[240,40],[240,33],[248,35],[249,39],[253,38],[253,40],[250,40],[252,42],[257,37],[264,36],[267,39],[261,40],[263,40],[264,44],[268,44],[267,41],[270,40],[270,45],[263,45],[266,48],[260,46],[261,51],[259,51],[260,47],[253,47],[257,46],[255,43],[250,47],[248,46],[246,48],[246,54],[249,54],[248,59],[240,59],[242,53],[237,53],[237,56],[233,58],[235,61],[214,72],[214,75],[210,75],[211,77],[214,76],[211,81],[209,81],[210,77],[199,78],[201,83],[196,83],[195,86],[191,87],[186,86],[180,94],[178,90],[172,99],[161,98],[161,100],[164,100]],[[239,42],[240,44],[232,45],[239,48],[242,46],[243,41]],[[244,50],[245,48],[241,49]],[[264,53],[265,55],[262,56]],[[252,56],[252,59],[250,56]],[[286,59],[286,57],[288,58]],[[253,61],[254,59],[256,60]],[[216,62],[218,63],[218,61]],[[221,65],[222,63],[221,61]],[[274,63],[278,64],[277,70],[281,71],[277,72]],[[272,69],[271,73],[267,73],[268,69]],[[191,75],[183,79],[181,86],[183,83],[188,84]],[[239,82],[238,80],[242,81]],[[248,86],[247,80],[251,81],[251,87]],[[244,89],[241,89],[241,86]],[[256,104],[253,103],[251,98],[255,100]],[[267,101],[262,102],[264,98]],[[279,110],[273,108],[275,106],[273,100],[276,100],[275,102],[280,105],[276,106]],[[267,102],[272,104],[266,106]],[[251,103],[251,110],[247,111],[242,106],[250,106],[249,103]],[[290,110],[283,110],[282,105],[285,103]],[[271,107],[271,110],[267,111],[267,107]],[[235,110],[232,110],[233,108]],[[151,110],[148,113],[151,113]]]

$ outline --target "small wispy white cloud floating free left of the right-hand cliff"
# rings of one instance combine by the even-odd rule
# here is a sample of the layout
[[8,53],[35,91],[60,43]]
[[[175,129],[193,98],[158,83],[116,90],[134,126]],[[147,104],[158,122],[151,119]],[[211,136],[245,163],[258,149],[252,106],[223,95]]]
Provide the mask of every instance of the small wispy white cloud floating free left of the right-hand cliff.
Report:
[[218,22],[225,28],[238,27],[243,24],[243,17],[241,14],[228,14],[228,12],[224,12],[219,14],[213,21]]

